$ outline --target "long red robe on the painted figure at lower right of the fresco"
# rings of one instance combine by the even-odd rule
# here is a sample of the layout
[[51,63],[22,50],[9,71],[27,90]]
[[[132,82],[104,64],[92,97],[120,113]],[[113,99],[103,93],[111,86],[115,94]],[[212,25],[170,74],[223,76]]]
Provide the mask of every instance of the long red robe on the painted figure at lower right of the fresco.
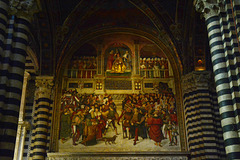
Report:
[[151,117],[151,118],[148,118],[147,124],[150,126],[149,133],[148,133],[150,138],[155,142],[161,142],[163,139],[162,128],[161,128],[163,125],[162,119],[158,117]]

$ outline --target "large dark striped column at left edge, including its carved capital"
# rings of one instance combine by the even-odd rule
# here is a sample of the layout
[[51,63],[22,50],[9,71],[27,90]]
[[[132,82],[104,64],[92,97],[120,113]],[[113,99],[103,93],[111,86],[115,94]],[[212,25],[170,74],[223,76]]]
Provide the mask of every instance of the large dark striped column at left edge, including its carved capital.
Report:
[[33,0],[0,0],[0,159],[13,159]]

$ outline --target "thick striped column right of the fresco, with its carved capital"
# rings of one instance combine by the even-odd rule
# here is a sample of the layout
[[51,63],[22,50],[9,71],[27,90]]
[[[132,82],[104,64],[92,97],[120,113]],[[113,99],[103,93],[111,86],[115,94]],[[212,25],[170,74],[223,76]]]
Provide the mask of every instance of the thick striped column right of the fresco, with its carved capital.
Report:
[[198,71],[182,78],[183,104],[191,159],[221,159],[225,152],[211,73]]

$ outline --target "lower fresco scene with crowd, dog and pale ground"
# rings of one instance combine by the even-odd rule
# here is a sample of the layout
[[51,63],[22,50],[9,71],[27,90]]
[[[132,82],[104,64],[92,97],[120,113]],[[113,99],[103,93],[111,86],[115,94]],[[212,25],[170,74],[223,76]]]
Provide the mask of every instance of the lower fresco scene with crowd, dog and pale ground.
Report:
[[96,95],[64,91],[59,151],[180,151],[174,94]]

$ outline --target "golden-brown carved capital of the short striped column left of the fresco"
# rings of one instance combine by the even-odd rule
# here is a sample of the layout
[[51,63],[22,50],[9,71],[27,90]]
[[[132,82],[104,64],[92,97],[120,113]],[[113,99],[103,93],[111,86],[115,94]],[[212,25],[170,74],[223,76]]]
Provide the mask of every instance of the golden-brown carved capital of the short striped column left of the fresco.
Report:
[[52,76],[39,76],[36,77],[35,85],[37,87],[36,94],[41,94],[44,97],[49,97],[53,88],[53,77]]

